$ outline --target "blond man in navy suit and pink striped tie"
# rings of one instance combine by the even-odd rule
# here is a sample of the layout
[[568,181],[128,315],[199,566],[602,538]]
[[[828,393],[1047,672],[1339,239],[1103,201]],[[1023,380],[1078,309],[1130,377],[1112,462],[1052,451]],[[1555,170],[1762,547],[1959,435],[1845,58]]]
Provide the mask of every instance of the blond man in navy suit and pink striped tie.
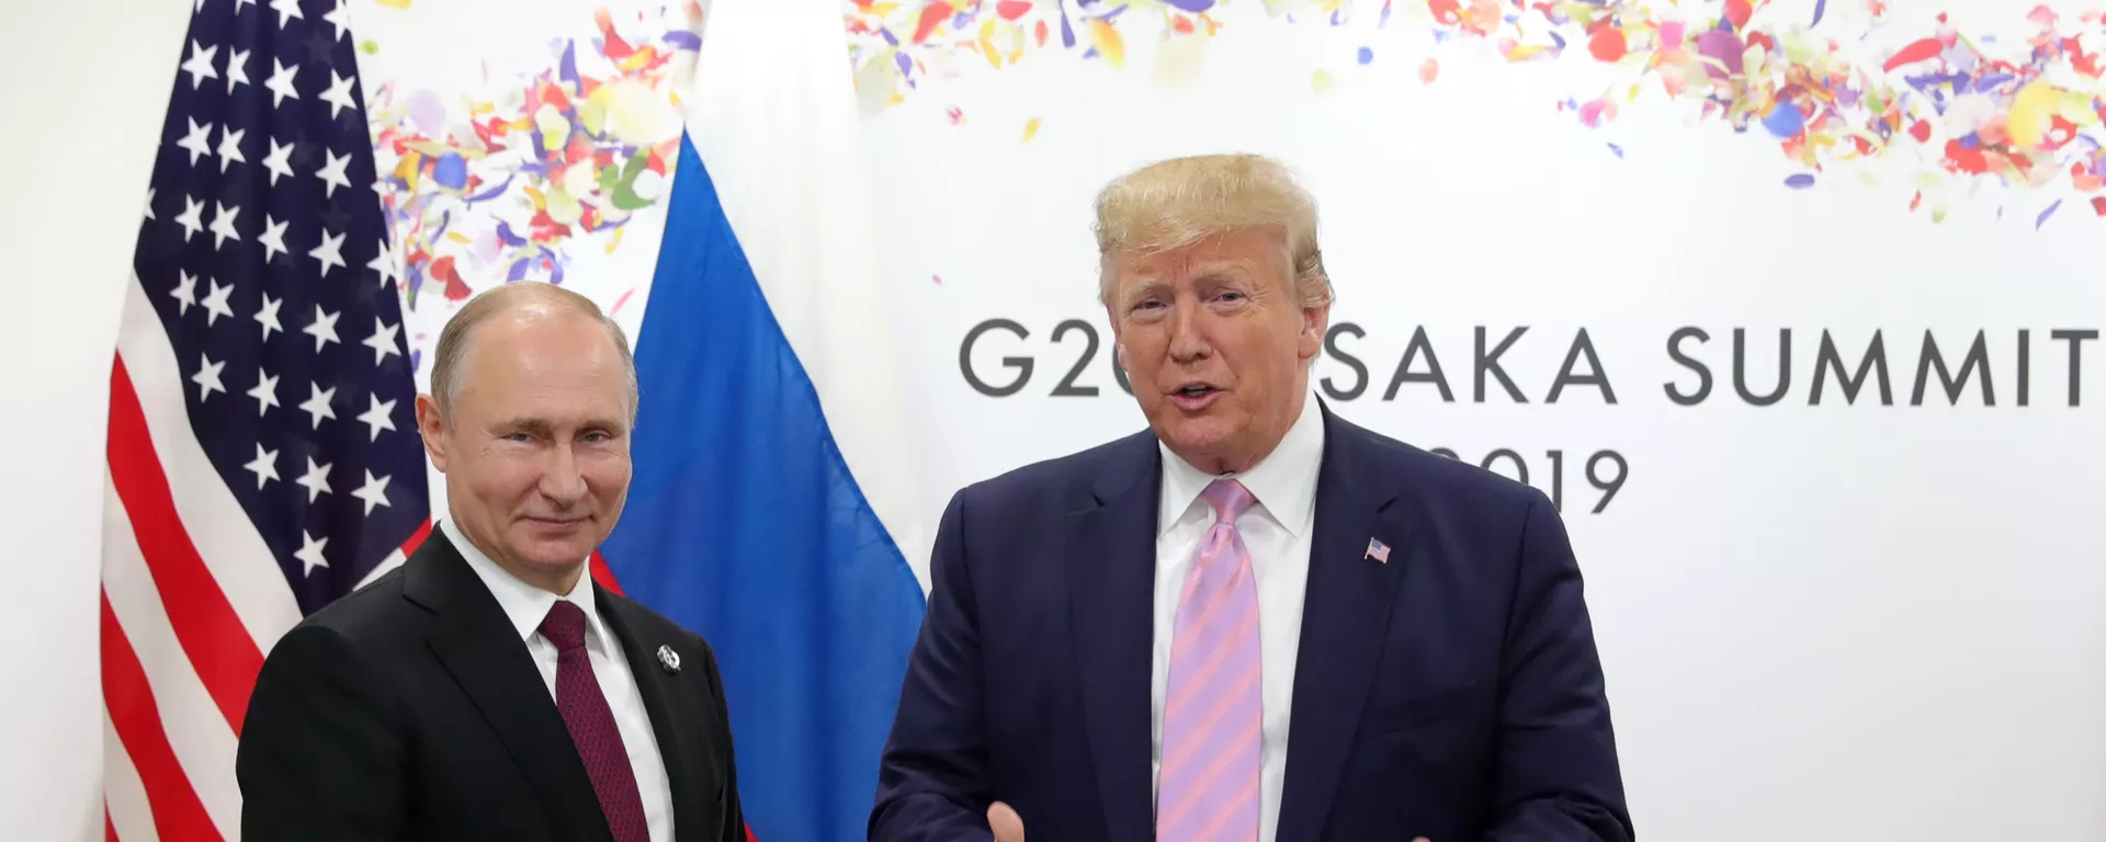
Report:
[[1316,204],[1257,156],[1097,198],[1148,432],[952,497],[872,840],[1630,840],[1535,488],[1310,392]]

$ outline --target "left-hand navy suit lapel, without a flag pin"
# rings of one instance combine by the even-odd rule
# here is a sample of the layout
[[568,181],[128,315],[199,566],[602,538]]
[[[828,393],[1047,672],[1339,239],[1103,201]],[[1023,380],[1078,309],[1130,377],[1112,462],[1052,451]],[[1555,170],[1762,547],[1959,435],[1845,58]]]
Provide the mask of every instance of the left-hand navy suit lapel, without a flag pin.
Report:
[[1087,507],[1068,520],[1068,625],[1106,838],[1114,842],[1154,838],[1148,676],[1158,459],[1152,436],[1120,442]]

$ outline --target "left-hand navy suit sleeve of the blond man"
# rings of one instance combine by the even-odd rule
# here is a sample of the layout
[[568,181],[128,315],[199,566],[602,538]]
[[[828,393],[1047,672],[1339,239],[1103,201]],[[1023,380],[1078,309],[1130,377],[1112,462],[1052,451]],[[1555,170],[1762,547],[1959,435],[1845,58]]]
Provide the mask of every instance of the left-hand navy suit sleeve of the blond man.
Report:
[[943,512],[929,573],[929,613],[908,655],[899,709],[878,764],[872,842],[992,838],[979,617],[967,560],[962,490]]

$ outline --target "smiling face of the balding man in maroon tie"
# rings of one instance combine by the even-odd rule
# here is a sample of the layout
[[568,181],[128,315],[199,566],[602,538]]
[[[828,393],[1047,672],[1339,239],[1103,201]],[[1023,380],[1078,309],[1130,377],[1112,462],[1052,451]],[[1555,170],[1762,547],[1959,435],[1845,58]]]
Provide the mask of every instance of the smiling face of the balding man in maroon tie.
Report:
[[417,400],[453,522],[520,579],[575,583],[630,488],[619,349],[592,318],[522,307],[476,326],[459,383],[446,417]]

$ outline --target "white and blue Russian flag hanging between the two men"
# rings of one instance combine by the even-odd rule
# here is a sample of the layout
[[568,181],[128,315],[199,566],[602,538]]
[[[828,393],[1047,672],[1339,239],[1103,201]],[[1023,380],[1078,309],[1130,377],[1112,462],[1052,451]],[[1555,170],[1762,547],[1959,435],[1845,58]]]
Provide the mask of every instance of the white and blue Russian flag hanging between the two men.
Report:
[[866,836],[927,606],[834,0],[718,0],[636,339],[621,592],[710,640],[748,827]]

